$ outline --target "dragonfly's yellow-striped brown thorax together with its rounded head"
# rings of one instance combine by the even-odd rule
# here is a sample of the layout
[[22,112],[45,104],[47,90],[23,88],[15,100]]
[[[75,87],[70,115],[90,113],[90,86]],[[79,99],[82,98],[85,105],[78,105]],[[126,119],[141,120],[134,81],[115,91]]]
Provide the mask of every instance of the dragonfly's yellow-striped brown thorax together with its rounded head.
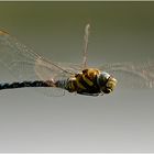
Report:
[[100,73],[96,68],[87,68],[70,77],[66,84],[66,89],[69,92],[76,91],[78,94],[109,94],[113,89],[113,80],[109,74]]

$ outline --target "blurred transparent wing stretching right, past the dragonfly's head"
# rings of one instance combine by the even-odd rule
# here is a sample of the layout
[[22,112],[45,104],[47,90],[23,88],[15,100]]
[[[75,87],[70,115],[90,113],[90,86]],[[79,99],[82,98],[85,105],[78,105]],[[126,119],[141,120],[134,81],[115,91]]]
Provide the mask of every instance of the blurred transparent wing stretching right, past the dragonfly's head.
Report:
[[154,61],[143,63],[116,63],[100,67],[118,79],[118,87],[153,88]]

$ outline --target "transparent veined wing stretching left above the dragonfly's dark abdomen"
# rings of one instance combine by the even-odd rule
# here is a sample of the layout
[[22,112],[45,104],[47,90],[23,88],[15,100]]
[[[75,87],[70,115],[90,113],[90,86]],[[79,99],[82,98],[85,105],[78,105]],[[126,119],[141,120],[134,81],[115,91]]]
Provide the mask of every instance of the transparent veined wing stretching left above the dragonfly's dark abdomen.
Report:
[[[61,63],[53,63],[2,31],[0,31],[0,62],[16,77],[16,80],[48,80],[51,78],[56,80],[68,78],[78,72],[77,65],[72,65],[72,67],[68,65],[65,68]],[[63,89],[52,89],[55,96],[64,95]]]

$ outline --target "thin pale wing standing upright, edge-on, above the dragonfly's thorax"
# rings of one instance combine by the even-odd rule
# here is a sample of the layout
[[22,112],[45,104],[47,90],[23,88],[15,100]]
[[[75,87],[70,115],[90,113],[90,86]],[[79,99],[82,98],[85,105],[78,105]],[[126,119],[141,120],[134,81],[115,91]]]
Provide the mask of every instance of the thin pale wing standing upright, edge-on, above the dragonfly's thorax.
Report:
[[84,59],[82,59],[82,67],[87,67],[87,50],[88,50],[88,37],[89,37],[89,29],[90,24],[86,24],[85,26],[85,35],[84,35]]

